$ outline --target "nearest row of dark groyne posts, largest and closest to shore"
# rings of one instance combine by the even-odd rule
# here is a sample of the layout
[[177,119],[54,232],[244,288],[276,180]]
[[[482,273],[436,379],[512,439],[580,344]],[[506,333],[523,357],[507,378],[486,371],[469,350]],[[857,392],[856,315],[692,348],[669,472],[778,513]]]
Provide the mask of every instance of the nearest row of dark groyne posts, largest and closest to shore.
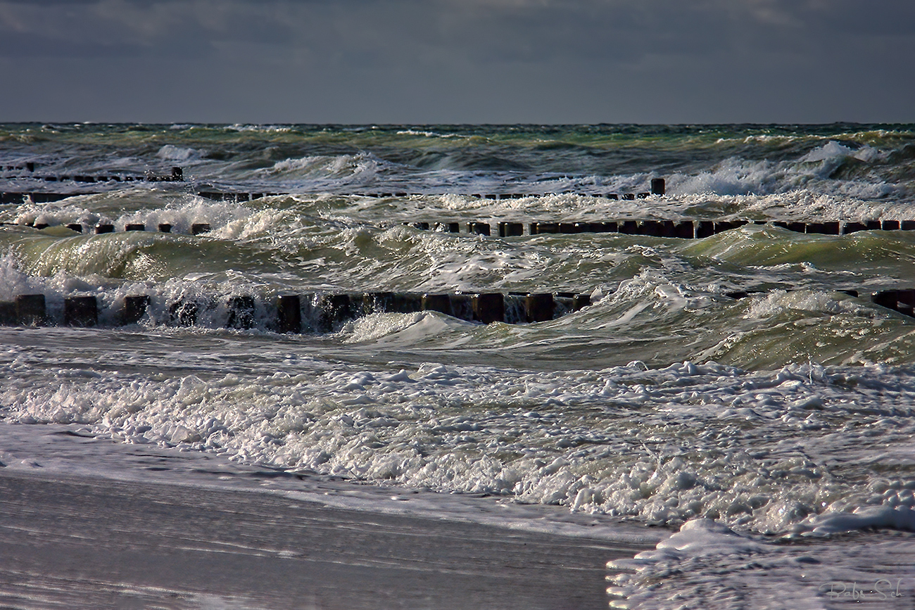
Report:
[[[858,296],[855,290],[838,291]],[[735,291],[725,296],[746,298],[754,291]],[[870,295],[876,305],[915,317],[915,290],[884,290]],[[522,324],[546,322],[591,305],[589,294],[575,293],[318,293],[280,294],[273,301],[253,295],[233,295],[221,301],[213,297],[182,297],[165,304],[156,318],[148,294],[125,296],[112,316],[112,325],[131,325],[145,316],[168,326],[195,326],[201,319],[208,326],[250,329],[263,316],[264,326],[279,333],[327,333],[342,323],[374,313],[410,314],[435,311],[470,322]],[[64,299],[64,326],[99,325],[101,307],[93,295]],[[260,316],[259,316],[260,314]],[[44,294],[20,294],[13,301],[0,301],[0,325],[55,326],[48,315]]]

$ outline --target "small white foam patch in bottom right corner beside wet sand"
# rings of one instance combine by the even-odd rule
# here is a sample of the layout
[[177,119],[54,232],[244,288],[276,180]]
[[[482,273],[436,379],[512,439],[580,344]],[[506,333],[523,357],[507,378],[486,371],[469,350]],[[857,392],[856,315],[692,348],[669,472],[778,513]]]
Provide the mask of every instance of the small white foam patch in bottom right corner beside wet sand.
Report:
[[655,551],[608,562],[611,607],[825,610],[901,607],[915,595],[910,536],[779,544],[695,519]]

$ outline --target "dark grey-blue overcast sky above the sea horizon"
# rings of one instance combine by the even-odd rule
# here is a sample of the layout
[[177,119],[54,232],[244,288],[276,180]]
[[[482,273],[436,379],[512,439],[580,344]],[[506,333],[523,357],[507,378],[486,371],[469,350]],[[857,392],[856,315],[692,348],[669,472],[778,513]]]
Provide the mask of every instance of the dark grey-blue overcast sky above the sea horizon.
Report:
[[913,0],[0,0],[0,122],[915,122]]

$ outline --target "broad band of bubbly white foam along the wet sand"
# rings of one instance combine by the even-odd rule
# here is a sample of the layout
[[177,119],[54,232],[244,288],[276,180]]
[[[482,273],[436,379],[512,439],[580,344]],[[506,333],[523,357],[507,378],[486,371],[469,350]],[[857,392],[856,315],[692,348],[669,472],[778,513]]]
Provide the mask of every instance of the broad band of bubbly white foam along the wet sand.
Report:
[[[371,328],[391,321],[400,329],[385,328],[382,338],[400,340],[442,318],[375,316],[362,324],[375,336]],[[316,375],[299,364],[253,376],[156,380],[74,377],[70,365],[46,358],[56,381],[36,387],[16,373],[28,361],[16,348],[3,357],[0,372],[10,381],[0,401],[14,421],[83,423],[128,442],[246,463],[655,523],[704,516],[741,530],[790,531],[836,497],[845,498],[846,512],[899,506],[890,496],[868,504],[873,492],[839,476],[844,466],[834,454],[847,459],[849,443],[860,459],[885,453],[871,434],[912,425],[893,415],[899,403],[887,398],[911,391],[911,381],[900,387],[898,376],[879,368],[867,371],[867,386],[849,389],[838,380],[850,373],[761,374],[688,362],[536,373],[430,364],[393,375],[358,367]],[[844,437],[830,433],[851,422]],[[650,430],[661,440],[648,446]],[[799,433],[803,448],[782,446]]]

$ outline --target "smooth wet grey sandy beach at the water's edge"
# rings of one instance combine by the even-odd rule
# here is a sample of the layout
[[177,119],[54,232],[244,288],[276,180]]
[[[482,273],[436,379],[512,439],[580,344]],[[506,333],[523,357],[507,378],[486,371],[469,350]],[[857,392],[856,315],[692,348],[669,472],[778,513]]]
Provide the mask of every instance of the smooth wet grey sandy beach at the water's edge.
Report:
[[[69,447],[85,461],[91,445],[169,468],[153,464],[169,459],[155,447],[42,436],[59,455]],[[22,439],[5,439],[10,460]],[[50,455],[48,444],[30,444]],[[38,460],[0,468],[3,608],[602,608],[606,562],[644,548],[251,487],[113,480],[86,474],[85,463],[73,475]]]

